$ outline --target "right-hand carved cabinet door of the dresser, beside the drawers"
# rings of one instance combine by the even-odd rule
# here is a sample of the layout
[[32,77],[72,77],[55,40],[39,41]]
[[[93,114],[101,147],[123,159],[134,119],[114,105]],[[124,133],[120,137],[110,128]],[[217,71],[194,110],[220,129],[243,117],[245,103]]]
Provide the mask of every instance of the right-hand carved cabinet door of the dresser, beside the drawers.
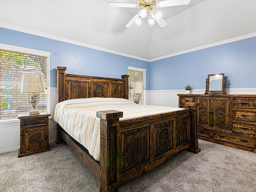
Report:
[[228,98],[212,98],[212,126],[230,129],[230,100]]

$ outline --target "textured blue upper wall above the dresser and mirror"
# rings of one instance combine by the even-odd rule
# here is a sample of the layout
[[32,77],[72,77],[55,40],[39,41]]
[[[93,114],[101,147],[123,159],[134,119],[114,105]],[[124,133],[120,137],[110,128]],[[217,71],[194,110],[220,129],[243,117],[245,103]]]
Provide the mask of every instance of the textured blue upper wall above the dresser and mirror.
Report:
[[150,90],[205,89],[216,73],[226,88],[256,88],[256,37],[150,62]]

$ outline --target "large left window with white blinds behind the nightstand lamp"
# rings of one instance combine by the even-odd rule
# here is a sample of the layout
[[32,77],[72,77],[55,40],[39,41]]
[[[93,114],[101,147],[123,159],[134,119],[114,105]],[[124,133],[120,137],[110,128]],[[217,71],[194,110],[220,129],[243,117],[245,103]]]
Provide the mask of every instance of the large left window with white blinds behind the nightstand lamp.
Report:
[[50,53],[17,48],[7,45],[3,47],[0,44],[0,121],[17,118],[19,114],[28,113],[31,110],[28,95],[20,93],[22,74],[25,72],[42,75],[45,92],[40,93],[36,108],[40,112],[48,112]]

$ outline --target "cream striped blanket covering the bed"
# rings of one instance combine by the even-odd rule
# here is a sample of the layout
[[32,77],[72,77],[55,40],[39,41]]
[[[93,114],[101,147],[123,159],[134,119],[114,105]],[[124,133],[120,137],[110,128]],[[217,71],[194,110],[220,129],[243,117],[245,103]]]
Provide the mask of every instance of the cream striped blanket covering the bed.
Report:
[[122,111],[121,121],[184,109],[138,105],[122,98],[81,98],[58,103],[54,112],[54,121],[82,144],[97,161],[100,160],[100,118],[96,117],[96,112],[103,110]]

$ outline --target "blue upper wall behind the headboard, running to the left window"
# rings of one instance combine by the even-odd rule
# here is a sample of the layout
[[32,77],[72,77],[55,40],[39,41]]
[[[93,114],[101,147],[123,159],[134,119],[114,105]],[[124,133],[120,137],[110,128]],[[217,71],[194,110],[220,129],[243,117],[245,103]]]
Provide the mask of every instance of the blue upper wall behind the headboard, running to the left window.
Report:
[[[149,62],[5,28],[0,28],[0,43],[51,52],[50,87],[57,84],[56,66],[67,67],[68,74],[110,78],[121,78],[128,73],[128,66],[132,66],[146,69],[149,76]],[[149,78],[146,89],[149,90]]]

